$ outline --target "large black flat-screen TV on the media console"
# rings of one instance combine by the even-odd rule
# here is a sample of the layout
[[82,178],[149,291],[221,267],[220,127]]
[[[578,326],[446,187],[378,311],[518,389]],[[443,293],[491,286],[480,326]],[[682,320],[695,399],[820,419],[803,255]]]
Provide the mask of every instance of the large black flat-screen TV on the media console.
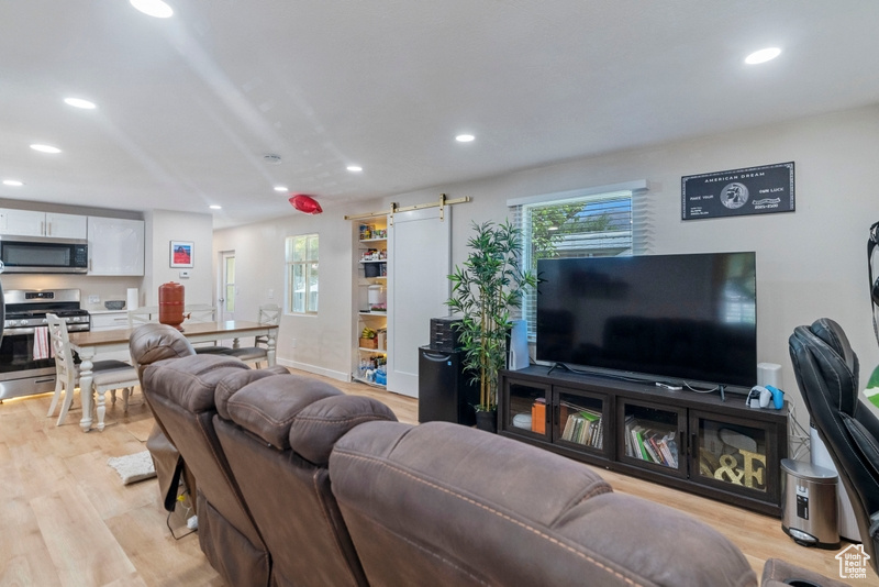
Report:
[[537,359],[750,387],[756,274],[754,253],[539,259]]

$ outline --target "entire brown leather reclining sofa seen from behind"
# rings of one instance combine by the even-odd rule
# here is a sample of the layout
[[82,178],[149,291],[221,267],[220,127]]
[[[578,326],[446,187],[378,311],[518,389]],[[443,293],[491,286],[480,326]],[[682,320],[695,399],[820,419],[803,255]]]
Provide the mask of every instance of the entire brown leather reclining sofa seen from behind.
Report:
[[[582,464],[187,346],[159,324],[131,340],[229,585],[757,585],[723,535]],[[764,584],[791,573],[839,585],[778,561]]]

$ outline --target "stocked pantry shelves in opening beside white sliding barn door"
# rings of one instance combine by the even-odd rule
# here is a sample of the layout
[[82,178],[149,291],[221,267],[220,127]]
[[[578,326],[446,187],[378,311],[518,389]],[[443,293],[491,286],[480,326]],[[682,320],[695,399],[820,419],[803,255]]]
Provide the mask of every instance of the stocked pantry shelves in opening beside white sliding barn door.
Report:
[[[356,241],[354,259],[354,346],[352,380],[376,387],[385,387],[381,378],[371,379],[363,368],[370,370],[387,365],[388,350],[388,218],[385,215],[359,219],[354,223]],[[383,308],[383,310],[382,310]],[[368,341],[361,337],[364,330],[376,333]],[[387,379],[386,379],[387,380]]]

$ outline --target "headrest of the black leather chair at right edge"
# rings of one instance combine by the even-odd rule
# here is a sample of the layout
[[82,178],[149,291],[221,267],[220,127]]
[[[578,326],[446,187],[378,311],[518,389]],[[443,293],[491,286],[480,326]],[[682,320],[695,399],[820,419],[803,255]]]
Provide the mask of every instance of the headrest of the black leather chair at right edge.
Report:
[[830,318],[815,320],[811,326],[797,326],[789,346],[797,383],[806,405],[820,392],[836,410],[854,414],[858,402],[859,364],[842,326]]

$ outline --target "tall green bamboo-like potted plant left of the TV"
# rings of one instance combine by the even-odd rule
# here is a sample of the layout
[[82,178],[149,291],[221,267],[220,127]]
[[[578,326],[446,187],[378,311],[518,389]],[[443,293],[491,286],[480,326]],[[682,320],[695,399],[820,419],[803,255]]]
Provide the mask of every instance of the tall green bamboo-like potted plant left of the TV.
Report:
[[455,328],[464,368],[479,383],[477,425],[497,429],[498,372],[507,364],[510,311],[521,307],[522,296],[537,285],[537,278],[520,264],[522,231],[509,220],[474,222],[474,230],[467,261],[448,276],[452,297],[446,304],[461,317]]

